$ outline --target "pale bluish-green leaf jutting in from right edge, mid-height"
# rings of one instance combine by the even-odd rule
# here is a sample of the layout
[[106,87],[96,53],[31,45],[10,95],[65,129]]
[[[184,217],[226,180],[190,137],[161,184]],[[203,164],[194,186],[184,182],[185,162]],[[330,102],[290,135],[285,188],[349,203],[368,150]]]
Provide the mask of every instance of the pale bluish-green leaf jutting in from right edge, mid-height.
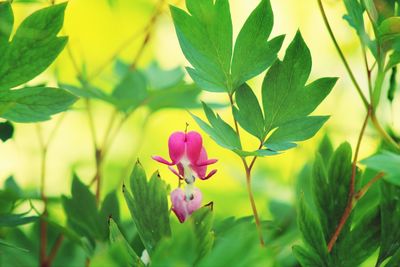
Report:
[[382,151],[362,160],[361,163],[367,165],[370,169],[383,171],[386,181],[400,186],[400,155],[389,151]]

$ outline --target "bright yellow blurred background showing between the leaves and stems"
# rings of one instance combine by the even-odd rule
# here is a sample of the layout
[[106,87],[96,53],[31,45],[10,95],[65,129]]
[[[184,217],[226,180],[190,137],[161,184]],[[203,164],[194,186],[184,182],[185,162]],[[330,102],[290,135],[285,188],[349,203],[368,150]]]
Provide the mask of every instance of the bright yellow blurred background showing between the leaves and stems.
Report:
[[[172,3],[172,1],[169,2]],[[310,81],[322,76],[336,76],[340,77],[340,80],[327,100],[315,112],[316,114],[331,115],[331,119],[316,137],[300,143],[298,148],[282,155],[257,161],[253,186],[257,205],[264,219],[270,218],[267,210],[269,199],[293,202],[296,176],[306,162],[312,161],[323,134],[329,133],[335,145],[345,140],[354,145],[364,117],[361,101],[347,78],[344,67],[329,39],[316,1],[271,0],[271,2],[275,14],[272,35],[286,34],[284,43],[284,47],[286,47],[296,31],[300,29],[311,50],[313,69]],[[365,87],[365,70],[359,42],[355,32],[342,19],[343,3],[334,0],[325,1],[325,3],[339,42],[357,79]],[[155,4],[156,1],[151,0],[117,0],[114,7],[110,8],[106,0],[70,0],[62,34],[69,36],[69,48],[79,67],[84,65],[89,75],[94,73],[112,57],[122,43],[148,23]],[[234,34],[236,35],[251,10],[258,4],[258,0],[232,0],[230,4]],[[16,24],[19,24],[34,10],[46,5],[13,4]],[[120,53],[123,60],[128,62],[133,60],[142,42],[142,37],[143,35],[131,45],[126,46]],[[284,49],[280,56],[283,55],[283,51]],[[167,6],[155,25],[151,42],[139,65],[145,67],[152,60],[159,61],[166,68],[188,65],[179,48]],[[251,82],[257,94],[260,92],[262,76],[260,75]],[[50,84],[54,84],[56,77],[62,82],[76,83],[76,71],[67,50],[46,73],[32,83],[49,81]],[[104,90],[110,90],[116,82],[112,75],[112,65],[109,65],[93,82]],[[224,96],[213,93],[204,93],[201,98],[206,101],[226,101]],[[399,104],[397,101],[393,110],[398,110]],[[72,111],[66,114],[48,151],[46,192],[50,196],[69,194],[73,170],[86,182],[93,177],[93,143],[87,115],[83,111],[84,107],[83,101],[80,101]],[[389,105],[383,106],[379,116],[384,124],[393,123],[394,127],[399,129],[399,117],[395,121],[396,116],[394,115],[396,114],[392,114],[391,109],[392,107]],[[194,112],[203,116],[201,110]],[[96,132],[100,140],[112,108],[107,104],[94,102],[93,113]],[[173,131],[183,130],[186,122],[190,124],[191,130],[200,132],[201,130],[187,111],[163,110],[150,118],[146,130],[143,132],[141,124],[145,113],[145,110],[136,112],[117,135],[104,166],[102,196],[110,190],[120,190],[121,172],[129,163],[128,159],[139,144],[141,147],[137,156],[147,172],[159,169],[162,178],[172,187],[177,184],[176,177],[168,171],[167,167],[157,164],[150,157],[151,155],[167,157],[169,135]],[[231,122],[228,109],[221,110],[220,113]],[[397,115],[400,114],[397,113]],[[58,117],[59,115],[55,116],[52,121],[41,123],[45,137],[49,135]],[[245,146],[249,149],[256,148],[258,145],[249,136],[246,136],[245,140]],[[377,144],[376,133],[370,128],[361,148],[361,157],[372,153]],[[204,202],[214,201],[217,216],[250,215],[251,209],[247,201],[244,172],[240,159],[232,152],[216,145],[206,135],[204,135],[204,145],[210,157],[219,159],[215,165],[218,173],[210,180],[196,183],[203,190]],[[18,124],[14,140],[0,144],[0,151],[0,183],[8,175],[13,174],[24,188],[38,190],[40,150],[35,124]],[[130,162],[131,165],[133,163]],[[125,209],[122,201],[121,206]]]

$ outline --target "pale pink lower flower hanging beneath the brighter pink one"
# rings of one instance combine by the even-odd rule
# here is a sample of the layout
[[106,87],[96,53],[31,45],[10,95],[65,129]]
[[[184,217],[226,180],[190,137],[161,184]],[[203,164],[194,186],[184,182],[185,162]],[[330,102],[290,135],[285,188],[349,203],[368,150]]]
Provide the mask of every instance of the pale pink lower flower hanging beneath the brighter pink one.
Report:
[[181,188],[177,188],[171,192],[172,211],[181,223],[201,207],[203,199],[200,189],[191,187],[189,190],[185,193]]

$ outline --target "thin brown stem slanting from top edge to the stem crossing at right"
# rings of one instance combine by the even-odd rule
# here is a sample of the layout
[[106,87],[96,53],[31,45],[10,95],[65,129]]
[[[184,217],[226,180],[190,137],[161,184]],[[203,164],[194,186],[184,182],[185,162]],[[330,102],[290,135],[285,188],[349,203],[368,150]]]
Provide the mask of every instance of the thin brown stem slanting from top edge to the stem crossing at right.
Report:
[[326,26],[326,28],[327,28],[327,30],[329,32],[329,36],[331,37],[333,44],[335,45],[336,51],[338,52],[338,54],[340,56],[340,59],[342,60],[343,65],[345,66],[345,68],[347,70],[347,73],[349,74],[350,79],[353,82],[354,87],[357,90],[357,93],[360,95],[361,100],[362,100],[365,108],[368,109],[368,106],[369,106],[368,100],[365,97],[364,93],[362,92],[361,87],[358,84],[358,82],[357,82],[357,80],[356,80],[356,78],[355,78],[355,76],[353,74],[353,71],[350,68],[349,63],[347,62],[346,57],[344,56],[343,51],[340,48],[340,46],[339,46],[339,44],[338,44],[338,42],[336,40],[335,35],[333,34],[332,28],[331,28],[331,26],[329,24],[329,21],[328,21],[328,17],[326,16],[326,13],[325,13],[325,10],[324,10],[324,6],[322,5],[322,0],[317,0],[317,2],[318,2],[319,10],[321,11],[322,18],[324,20],[324,24],[325,24],[325,26]]

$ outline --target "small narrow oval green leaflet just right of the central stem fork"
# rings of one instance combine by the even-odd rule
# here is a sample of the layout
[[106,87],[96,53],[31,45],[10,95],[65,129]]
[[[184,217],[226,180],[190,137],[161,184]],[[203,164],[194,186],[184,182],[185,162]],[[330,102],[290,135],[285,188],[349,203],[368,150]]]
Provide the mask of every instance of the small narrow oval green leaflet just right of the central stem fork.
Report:
[[233,114],[240,126],[260,141],[264,138],[264,115],[253,90],[244,83],[236,90],[236,104]]

